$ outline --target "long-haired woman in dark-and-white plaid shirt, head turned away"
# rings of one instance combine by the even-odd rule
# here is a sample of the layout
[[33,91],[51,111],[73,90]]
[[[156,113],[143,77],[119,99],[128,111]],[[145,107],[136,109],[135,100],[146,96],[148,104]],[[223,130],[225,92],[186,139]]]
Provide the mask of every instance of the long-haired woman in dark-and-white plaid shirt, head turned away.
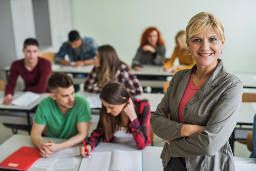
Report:
[[117,81],[124,84],[131,95],[142,94],[143,89],[139,80],[130,72],[127,65],[120,61],[112,46],[100,46],[94,60],[95,67],[85,80],[86,91],[100,92],[106,83]]

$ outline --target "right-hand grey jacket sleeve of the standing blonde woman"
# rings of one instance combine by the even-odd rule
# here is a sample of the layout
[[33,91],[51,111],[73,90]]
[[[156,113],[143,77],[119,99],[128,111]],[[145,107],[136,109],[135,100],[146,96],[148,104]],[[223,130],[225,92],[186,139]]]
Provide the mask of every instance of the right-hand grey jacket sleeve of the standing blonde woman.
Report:
[[214,156],[228,141],[237,124],[242,94],[242,82],[231,83],[218,99],[202,133],[170,142],[171,156]]

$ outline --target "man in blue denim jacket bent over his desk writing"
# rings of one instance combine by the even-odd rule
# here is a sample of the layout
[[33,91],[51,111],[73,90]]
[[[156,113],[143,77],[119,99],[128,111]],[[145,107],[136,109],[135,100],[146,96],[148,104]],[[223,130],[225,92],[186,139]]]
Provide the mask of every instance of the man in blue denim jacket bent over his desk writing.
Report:
[[[55,55],[54,61],[66,66],[71,66],[71,62],[75,62],[73,66],[84,66],[94,63],[94,56],[98,49],[98,44],[91,38],[81,38],[77,31],[69,33],[69,41],[62,44],[59,52]],[[70,61],[65,60],[68,54]]]

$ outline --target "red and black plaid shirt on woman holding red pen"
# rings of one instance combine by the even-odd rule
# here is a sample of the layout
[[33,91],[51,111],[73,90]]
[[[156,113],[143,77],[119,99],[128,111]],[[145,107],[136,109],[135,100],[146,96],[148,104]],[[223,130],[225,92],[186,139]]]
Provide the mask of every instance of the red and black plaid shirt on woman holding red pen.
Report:
[[[138,149],[143,149],[151,142],[150,104],[146,100],[132,99],[132,101],[137,108],[136,114],[138,118],[129,123],[129,127],[131,128],[132,135]],[[109,141],[106,139],[100,119],[97,128],[91,134],[91,137],[88,139],[86,144],[90,144],[91,148],[94,149],[101,141],[101,138],[103,138],[103,142],[113,142],[113,137]]]

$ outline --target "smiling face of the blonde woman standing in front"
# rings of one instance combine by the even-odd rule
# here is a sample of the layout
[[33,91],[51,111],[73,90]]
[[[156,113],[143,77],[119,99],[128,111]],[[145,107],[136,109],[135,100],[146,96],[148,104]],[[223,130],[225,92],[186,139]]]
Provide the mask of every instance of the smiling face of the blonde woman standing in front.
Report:
[[188,40],[187,46],[196,60],[197,67],[211,67],[217,65],[225,39],[221,40],[216,28],[207,29]]

